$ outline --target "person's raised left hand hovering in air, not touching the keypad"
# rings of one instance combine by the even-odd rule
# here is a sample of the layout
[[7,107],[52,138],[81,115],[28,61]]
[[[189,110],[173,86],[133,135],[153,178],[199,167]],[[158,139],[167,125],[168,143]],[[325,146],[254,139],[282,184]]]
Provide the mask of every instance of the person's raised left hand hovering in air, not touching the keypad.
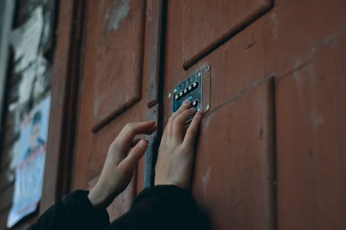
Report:
[[121,130],[109,146],[98,182],[89,191],[88,198],[94,207],[106,208],[117,195],[125,190],[139,159],[147,150],[147,141],[135,139],[135,136],[152,134],[156,128],[154,121],[145,121],[128,123]]

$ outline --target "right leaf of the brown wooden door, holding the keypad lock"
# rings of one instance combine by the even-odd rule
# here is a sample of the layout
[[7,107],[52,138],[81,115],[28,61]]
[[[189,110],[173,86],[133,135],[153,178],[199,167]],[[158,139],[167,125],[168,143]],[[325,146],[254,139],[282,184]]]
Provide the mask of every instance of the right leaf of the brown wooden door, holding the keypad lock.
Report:
[[345,7],[167,1],[164,122],[211,67],[192,193],[212,229],[345,229]]

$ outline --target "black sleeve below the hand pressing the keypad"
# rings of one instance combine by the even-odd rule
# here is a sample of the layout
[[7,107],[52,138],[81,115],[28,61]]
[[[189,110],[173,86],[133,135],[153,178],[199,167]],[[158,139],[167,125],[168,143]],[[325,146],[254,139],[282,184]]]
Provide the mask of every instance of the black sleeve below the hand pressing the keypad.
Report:
[[108,230],[207,229],[190,192],[178,186],[154,186],[137,195],[131,209]]

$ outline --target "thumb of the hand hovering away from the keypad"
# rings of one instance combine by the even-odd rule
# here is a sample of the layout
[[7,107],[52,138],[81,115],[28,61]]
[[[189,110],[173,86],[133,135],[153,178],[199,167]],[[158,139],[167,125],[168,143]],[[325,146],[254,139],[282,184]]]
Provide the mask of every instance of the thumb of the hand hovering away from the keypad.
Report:
[[134,148],[132,148],[131,152],[129,152],[127,157],[125,157],[125,159],[122,160],[122,162],[120,163],[122,164],[121,167],[124,167],[127,170],[134,170],[140,158],[142,158],[145,154],[145,151],[147,150],[147,145],[147,141],[140,140],[134,146]]

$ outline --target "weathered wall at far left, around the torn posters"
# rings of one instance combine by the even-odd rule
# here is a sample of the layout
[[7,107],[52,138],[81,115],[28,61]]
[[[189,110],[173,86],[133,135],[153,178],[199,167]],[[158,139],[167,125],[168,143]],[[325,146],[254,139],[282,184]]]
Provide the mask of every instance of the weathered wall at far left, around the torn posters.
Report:
[[[30,17],[35,6],[42,4],[42,2],[55,4],[55,1],[12,1],[12,4],[17,4],[15,14],[12,15],[9,14],[12,4],[7,4],[3,10],[8,14],[8,17],[13,17],[8,19],[11,21],[8,29],[12,28],[12,20],[14,21],[12,29],[21,26]],[[50,10],[51,12],[52,8],[44,8],[44,13],[46,12],[45,10]],[[53,15],[52,19],[54,19]],[[49,48],[45,47],[44,58],[48,61],[44,62],[46,69],[37,71],[35,76],[28,76],[24,74],[25,71],[15,73],[16,63],[13,60],[13,47],[10,48],[10,31],[7,28],[2,28],[2,32],[3,46],[1,46],[0,50],[1,58],[6,57],[6,55],[10,57],[8,62],[5,60],[0,63],[0,80],[3,80],[3,82],[0,82],[0,93],[1,88],[4,89],[3,100],[1,100],[1,103],[3,103],[1,115],[3,117],[1,119],[0,149],[0,229],[6,229],[8,212],[12,205],[12,195],[14,192],[14,170],[17,163],[15,153],[18,150],[21,120],[24,114],[37,105],[42,98],[50,94],[50,66],[53,60],[53,46],[51,46],[52,41],[50,40],[48,42]],[[26,227],[26,224],[19,224],[17,228],[25,229]]]

